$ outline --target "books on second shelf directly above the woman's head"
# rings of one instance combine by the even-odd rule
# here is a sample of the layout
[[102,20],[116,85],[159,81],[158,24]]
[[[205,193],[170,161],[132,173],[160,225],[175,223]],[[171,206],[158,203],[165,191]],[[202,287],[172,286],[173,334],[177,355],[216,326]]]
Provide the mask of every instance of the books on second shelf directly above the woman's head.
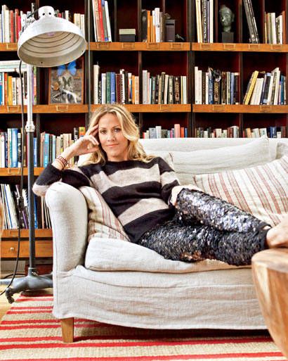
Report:
[[120,69],[100,73],[100,66],[93,66],[94,104],[139,104],[139,77]]

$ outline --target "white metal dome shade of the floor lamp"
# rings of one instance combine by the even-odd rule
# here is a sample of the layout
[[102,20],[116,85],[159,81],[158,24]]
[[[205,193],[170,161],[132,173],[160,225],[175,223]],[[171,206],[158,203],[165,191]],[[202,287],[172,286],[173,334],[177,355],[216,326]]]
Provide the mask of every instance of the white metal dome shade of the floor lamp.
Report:
[[85,50],[86,40],[79,27],[55,18],[51,6],[39,8],[39,20],[27,26],[18,40],[19,58],[42,68],[70,63]]

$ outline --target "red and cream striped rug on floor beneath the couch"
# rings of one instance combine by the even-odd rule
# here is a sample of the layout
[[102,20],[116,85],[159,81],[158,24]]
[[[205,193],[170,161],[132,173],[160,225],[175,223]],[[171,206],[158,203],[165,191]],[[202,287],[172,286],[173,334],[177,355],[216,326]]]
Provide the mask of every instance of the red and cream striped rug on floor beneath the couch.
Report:
[[266,331],[149,330],[75,320],[75,341],[61,340],[53,296],[20,296],[0,324],[0,360],[280,361]]

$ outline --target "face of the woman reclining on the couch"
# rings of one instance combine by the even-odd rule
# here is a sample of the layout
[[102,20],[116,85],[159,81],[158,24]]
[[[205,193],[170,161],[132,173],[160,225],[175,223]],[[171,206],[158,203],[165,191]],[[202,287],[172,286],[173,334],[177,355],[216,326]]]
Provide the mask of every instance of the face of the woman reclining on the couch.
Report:
[[99,141],[107,160],[121,162],[128,160],[128,139],[122,133],[122,127],[116,115],[107,113],[98,122]]

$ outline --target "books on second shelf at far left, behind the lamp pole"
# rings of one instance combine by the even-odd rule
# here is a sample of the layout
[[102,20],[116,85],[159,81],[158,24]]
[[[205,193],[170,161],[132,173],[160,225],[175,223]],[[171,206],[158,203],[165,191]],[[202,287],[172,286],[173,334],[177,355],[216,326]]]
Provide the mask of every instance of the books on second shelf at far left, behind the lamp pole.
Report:
[[[21,104],[20,61],[0,61],[0,105],[16,106]],[[32,104],[37,103],[37,70],[32,68]],[[27,105],[27,64],[21,65],[23,84],[23,104]]]

